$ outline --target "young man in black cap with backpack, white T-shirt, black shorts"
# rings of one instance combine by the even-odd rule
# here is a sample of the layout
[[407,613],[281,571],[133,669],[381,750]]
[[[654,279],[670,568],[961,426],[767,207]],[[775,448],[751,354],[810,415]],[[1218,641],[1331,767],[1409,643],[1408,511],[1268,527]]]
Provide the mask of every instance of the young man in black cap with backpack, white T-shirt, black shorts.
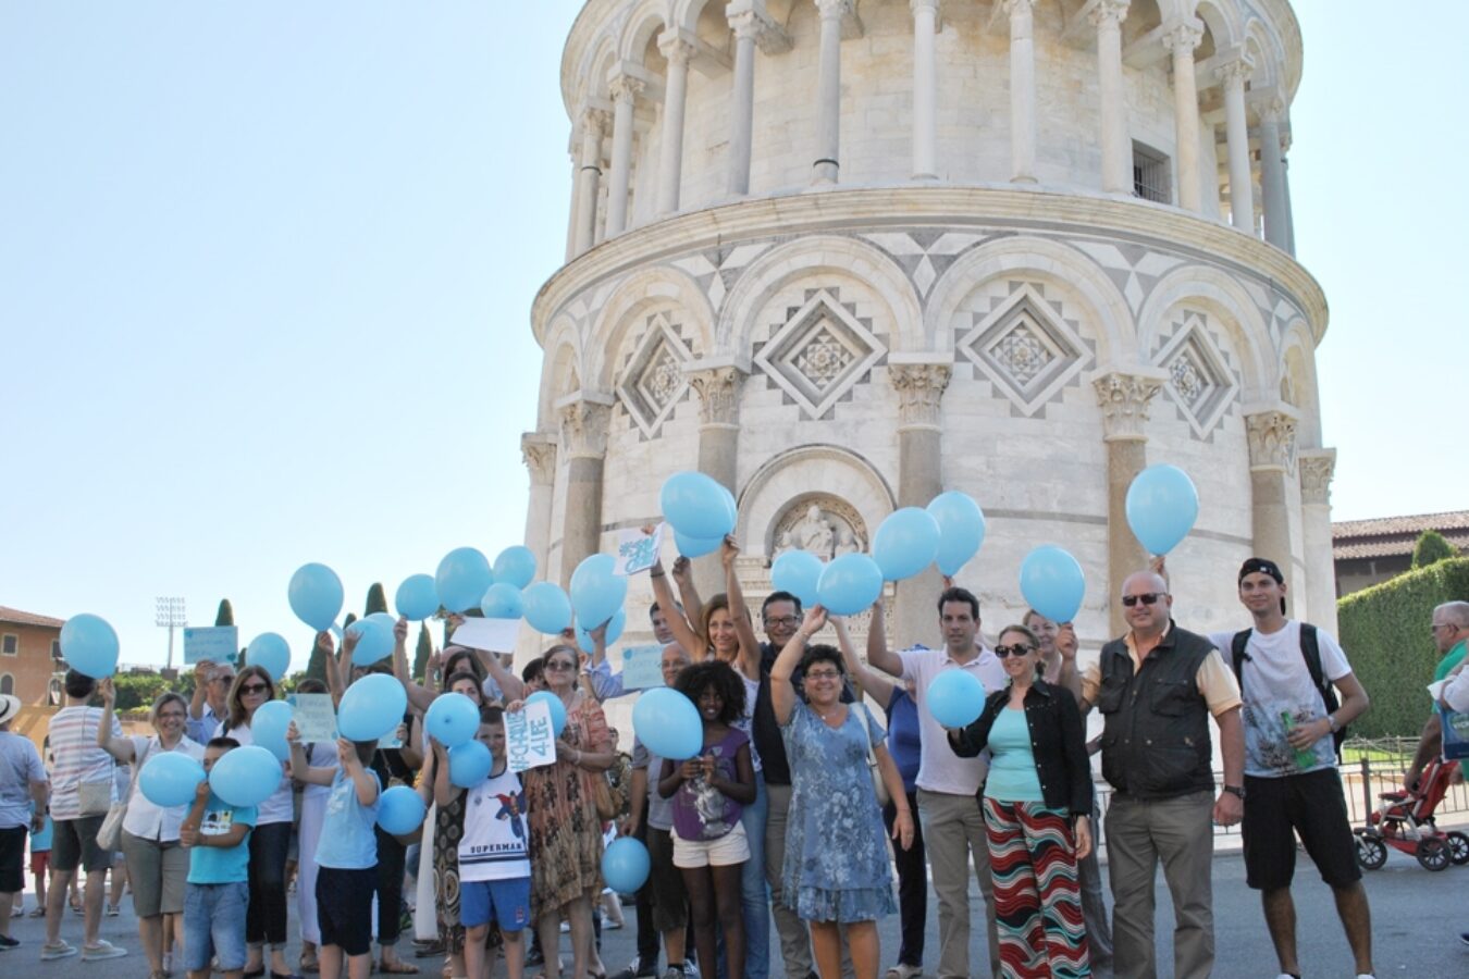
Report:
[[1299,834],[1335,897],[1357,979],[1371,978],[1372,916],[1337,772],[1337,738],[1368,709],[1368,694],[1329,633],[1285,618],[1285,577],[1274,561],[1244,562],[1240,602],[1253,628],[1209,638],[1244,700],[1246,882],[1260,891],[1281,978],[1299,976],[1290,892]]

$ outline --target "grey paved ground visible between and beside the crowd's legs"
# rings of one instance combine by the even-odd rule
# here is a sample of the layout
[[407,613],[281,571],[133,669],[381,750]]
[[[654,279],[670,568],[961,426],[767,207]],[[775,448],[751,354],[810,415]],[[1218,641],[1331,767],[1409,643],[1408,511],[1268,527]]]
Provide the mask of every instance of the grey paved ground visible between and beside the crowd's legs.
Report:
[[[1297,873],[1296,900],[1300,917],[1302,960],[1307,976],[1346,976],[1350,979],[1351,957],[1337,922],[1329,892],[1321,884],[1315,867],[1302,854]],[[1215,976],[1221,979],[1271,979],[1277,975],[1274,953],[1260,917],[1259,900],[1244,887],[1244,866],[1237,853],[1221,853],[1213,863],[1215,882],[1215,932],[1218,961]],[[1463,979],[1469,976],[1469,948],[1459,941],[1459,932],[1469,931],[1469,866],[1450,867],[1429,873],[1406,854],[1393,851],[1381,870],[1368,872],[1368,892],[1372,901],[1374,935],[1376,941],[1376,975],[1379,979],[1397,976],[1404,979]],[[978,892],[972,891],[975,907]],[[1162,879],[1158,884],[1159,922],[1171,922],[1172,907],[1168,903],[1168,888]],[[103,919],[103,938],[129,950],[126,958],[107,963],[82,963],[78,958],[40,961],[40,947],[44,941],[41,920],[29,917],[12,922],[12,935],[21,939],[21,948],[0,954],[0,978],[16,979],[147,979],[147,963],[138,950],[137,922],[123,898],[125,910],[119,917]],[[34,895],[26,895],[26,907],[34,907]],[[294,907],[292,907],[294,913]],[[627,909],[629,926],[623,931],[604,933],[602,957],[608,969],[616,970],[633,956],[633,910]],[[937,947],[936,911],[928,911],[928,964],[933,964],[933,948]],[[295,926],[292,923],[292,933]],[[1169,928],[1161,926],[1159,958],[1163,961],[1163,976],[1171,976]],[[898,948],[898,919],[889,917],[880,928],[884,967]],[[971,963],[984,961],[984,929],[974,929],[975,942]],[[81,941],[81,919],[68,913],[63,936],[72,942]],[[566,942],[563,939],[563,947]],[[295,963],[297,947],[292,942],[288,961]],[[404,945],[408,957],[408,947]],[[567,951],[567,964],[570,953]],[[410,961],[413,961],[410,958]],[[442,960],[417,960],[426,979],[438,979]],[[777,969],[777,973],[779,969]],[[1108,972],[1099,972],[1109,976]]]

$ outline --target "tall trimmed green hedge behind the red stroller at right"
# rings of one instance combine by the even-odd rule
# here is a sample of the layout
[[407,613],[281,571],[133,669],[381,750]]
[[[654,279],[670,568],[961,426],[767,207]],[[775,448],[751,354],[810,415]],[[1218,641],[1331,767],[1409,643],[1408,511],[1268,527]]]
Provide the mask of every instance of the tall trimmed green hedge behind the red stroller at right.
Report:
[[1351,734],[1415,735],[1428,718],[1428,693],[1438,647],[1429,636],[1434,608],[1469,599],[1469,558],[1440,561],[1337,602],[1341,646],[1372,697]]

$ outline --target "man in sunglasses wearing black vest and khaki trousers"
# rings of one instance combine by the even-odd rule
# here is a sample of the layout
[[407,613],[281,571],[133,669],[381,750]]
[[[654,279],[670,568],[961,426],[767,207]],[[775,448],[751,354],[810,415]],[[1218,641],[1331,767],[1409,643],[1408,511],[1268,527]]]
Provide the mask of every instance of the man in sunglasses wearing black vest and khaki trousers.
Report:
[[[1174,624],[1168,583],[1138,571],[1122,583],[1128,634],[1102,647],[1080,683],[1081,712],[1106,719],[1102,775],[1115,794],[1106,813],[1112,879],[1112,969],[1118,979],[1153,979],[1153,878],[1159,862],[1174,900],[1174,975],[1213,969],[1210,819],[1244,815],[1240,687],[1219,650]],[[1066,675],[1069,674],[1069,675]],[[1062,683],[1075,685],[1074,662]],[[1209,716],[1219,725],[1224,791],[1213,794]]]

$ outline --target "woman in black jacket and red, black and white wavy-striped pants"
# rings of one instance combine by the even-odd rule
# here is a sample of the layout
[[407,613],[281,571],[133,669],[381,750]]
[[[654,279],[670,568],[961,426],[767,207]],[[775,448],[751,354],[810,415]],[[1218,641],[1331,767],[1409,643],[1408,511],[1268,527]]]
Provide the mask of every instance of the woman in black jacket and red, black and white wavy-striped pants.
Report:
[[1006,979],[1091,975],[1077,887],[1077,860],[1091,850],[1091,766],[1075,697],[1040,680],[1039,646],[1028,628],[1006,627],[995,655],[1009,685],[949,732],[955,754],[992,754],[980,806]]

